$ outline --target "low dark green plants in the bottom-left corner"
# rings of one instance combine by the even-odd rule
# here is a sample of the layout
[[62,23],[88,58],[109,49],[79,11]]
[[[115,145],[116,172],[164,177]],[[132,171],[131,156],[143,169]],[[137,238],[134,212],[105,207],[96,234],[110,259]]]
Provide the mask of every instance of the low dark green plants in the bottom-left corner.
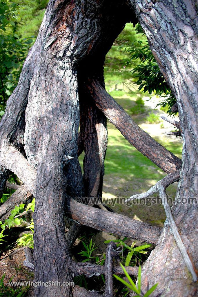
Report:
[[[26,296],[27,291],[29,290],[29,286],[26,287],[12,287],[4,285],[5,274],[2,275],[0,279],[0,297],[23,297]],[[9,280],[12,282],[13,277]]]

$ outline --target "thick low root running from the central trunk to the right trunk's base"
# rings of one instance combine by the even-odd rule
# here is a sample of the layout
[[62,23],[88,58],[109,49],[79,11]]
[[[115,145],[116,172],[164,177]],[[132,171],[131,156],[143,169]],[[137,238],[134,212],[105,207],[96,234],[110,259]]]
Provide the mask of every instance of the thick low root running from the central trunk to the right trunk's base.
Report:
[[[81,204],[73,199],[68,202],[66,215],[88,227],[115,233],[156,244],[162,228],[131,219],[121,214],[104,211]],[[67,207],[67,206],[66,206]]]

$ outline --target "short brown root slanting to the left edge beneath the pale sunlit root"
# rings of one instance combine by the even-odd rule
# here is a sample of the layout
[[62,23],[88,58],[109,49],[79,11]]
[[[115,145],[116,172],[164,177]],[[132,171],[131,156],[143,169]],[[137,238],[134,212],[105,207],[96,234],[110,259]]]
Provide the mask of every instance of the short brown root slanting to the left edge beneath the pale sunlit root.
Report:
[[0,221],[4,222],[8,219],[10,211],[19,206],[26,204],[28,200],[33,198],[25,185],[20,186],[9,198],[0,206]]

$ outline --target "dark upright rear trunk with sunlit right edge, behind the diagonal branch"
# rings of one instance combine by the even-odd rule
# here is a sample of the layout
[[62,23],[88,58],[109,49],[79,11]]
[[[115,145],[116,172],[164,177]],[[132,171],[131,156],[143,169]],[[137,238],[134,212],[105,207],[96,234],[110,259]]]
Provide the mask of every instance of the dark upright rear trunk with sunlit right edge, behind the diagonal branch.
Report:
[[104,158],[107,149],[107,119],[89,99],[88,94],[80,92],[79,96],[81,98],[80,134],[85,150],[83,161],[85,196],[102,197]]

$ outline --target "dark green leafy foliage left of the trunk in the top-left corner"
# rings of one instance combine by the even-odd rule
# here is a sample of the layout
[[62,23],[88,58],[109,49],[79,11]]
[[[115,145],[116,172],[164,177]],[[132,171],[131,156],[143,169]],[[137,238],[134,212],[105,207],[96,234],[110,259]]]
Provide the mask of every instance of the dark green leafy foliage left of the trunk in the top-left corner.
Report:
[[4,0],[0,3],[0,117],[4,114],[6,101],[18,83],[19,75],[32,44],[31,38],[21,39],[16,33],[17,3]]

